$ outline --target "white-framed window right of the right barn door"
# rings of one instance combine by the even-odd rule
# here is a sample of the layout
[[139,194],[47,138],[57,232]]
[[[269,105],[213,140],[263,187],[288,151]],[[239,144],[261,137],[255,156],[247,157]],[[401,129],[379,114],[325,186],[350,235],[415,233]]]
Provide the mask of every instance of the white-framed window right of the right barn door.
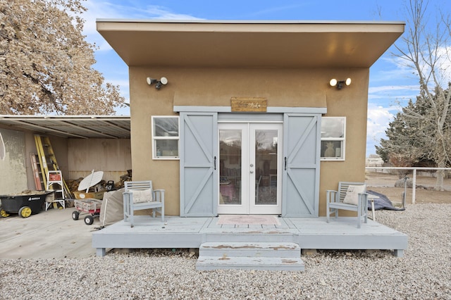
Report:
[[321,160],[345,160],[345,117],[321,118]]

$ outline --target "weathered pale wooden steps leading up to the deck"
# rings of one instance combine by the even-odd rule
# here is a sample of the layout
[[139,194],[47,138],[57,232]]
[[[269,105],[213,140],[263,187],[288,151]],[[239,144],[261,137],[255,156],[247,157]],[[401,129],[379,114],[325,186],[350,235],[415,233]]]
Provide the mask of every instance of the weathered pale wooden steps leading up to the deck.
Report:
[[206,242],[199,247],[196,269],[303,271],[304,262],[292,242]]

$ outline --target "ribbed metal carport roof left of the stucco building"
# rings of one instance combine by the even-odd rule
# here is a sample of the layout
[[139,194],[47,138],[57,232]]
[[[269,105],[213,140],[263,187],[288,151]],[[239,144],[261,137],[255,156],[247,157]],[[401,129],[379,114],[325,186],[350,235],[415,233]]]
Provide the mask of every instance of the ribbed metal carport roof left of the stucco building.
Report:
[[129,115],[0,115],[10,130],[81,139],[130,139]]

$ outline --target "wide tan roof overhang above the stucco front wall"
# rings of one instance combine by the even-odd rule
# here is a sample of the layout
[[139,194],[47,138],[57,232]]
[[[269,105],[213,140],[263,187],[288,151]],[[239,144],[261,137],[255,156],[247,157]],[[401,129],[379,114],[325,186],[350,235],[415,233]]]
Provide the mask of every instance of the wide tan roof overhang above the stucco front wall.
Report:
[[129,66],[369,68],[403,22],[98,19]]

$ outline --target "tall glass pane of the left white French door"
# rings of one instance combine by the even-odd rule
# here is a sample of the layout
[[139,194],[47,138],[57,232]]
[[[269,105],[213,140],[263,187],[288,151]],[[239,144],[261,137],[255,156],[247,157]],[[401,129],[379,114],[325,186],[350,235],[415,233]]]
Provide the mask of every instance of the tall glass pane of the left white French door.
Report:
[[219,204],[241,204],[241,130],[219,130]]

